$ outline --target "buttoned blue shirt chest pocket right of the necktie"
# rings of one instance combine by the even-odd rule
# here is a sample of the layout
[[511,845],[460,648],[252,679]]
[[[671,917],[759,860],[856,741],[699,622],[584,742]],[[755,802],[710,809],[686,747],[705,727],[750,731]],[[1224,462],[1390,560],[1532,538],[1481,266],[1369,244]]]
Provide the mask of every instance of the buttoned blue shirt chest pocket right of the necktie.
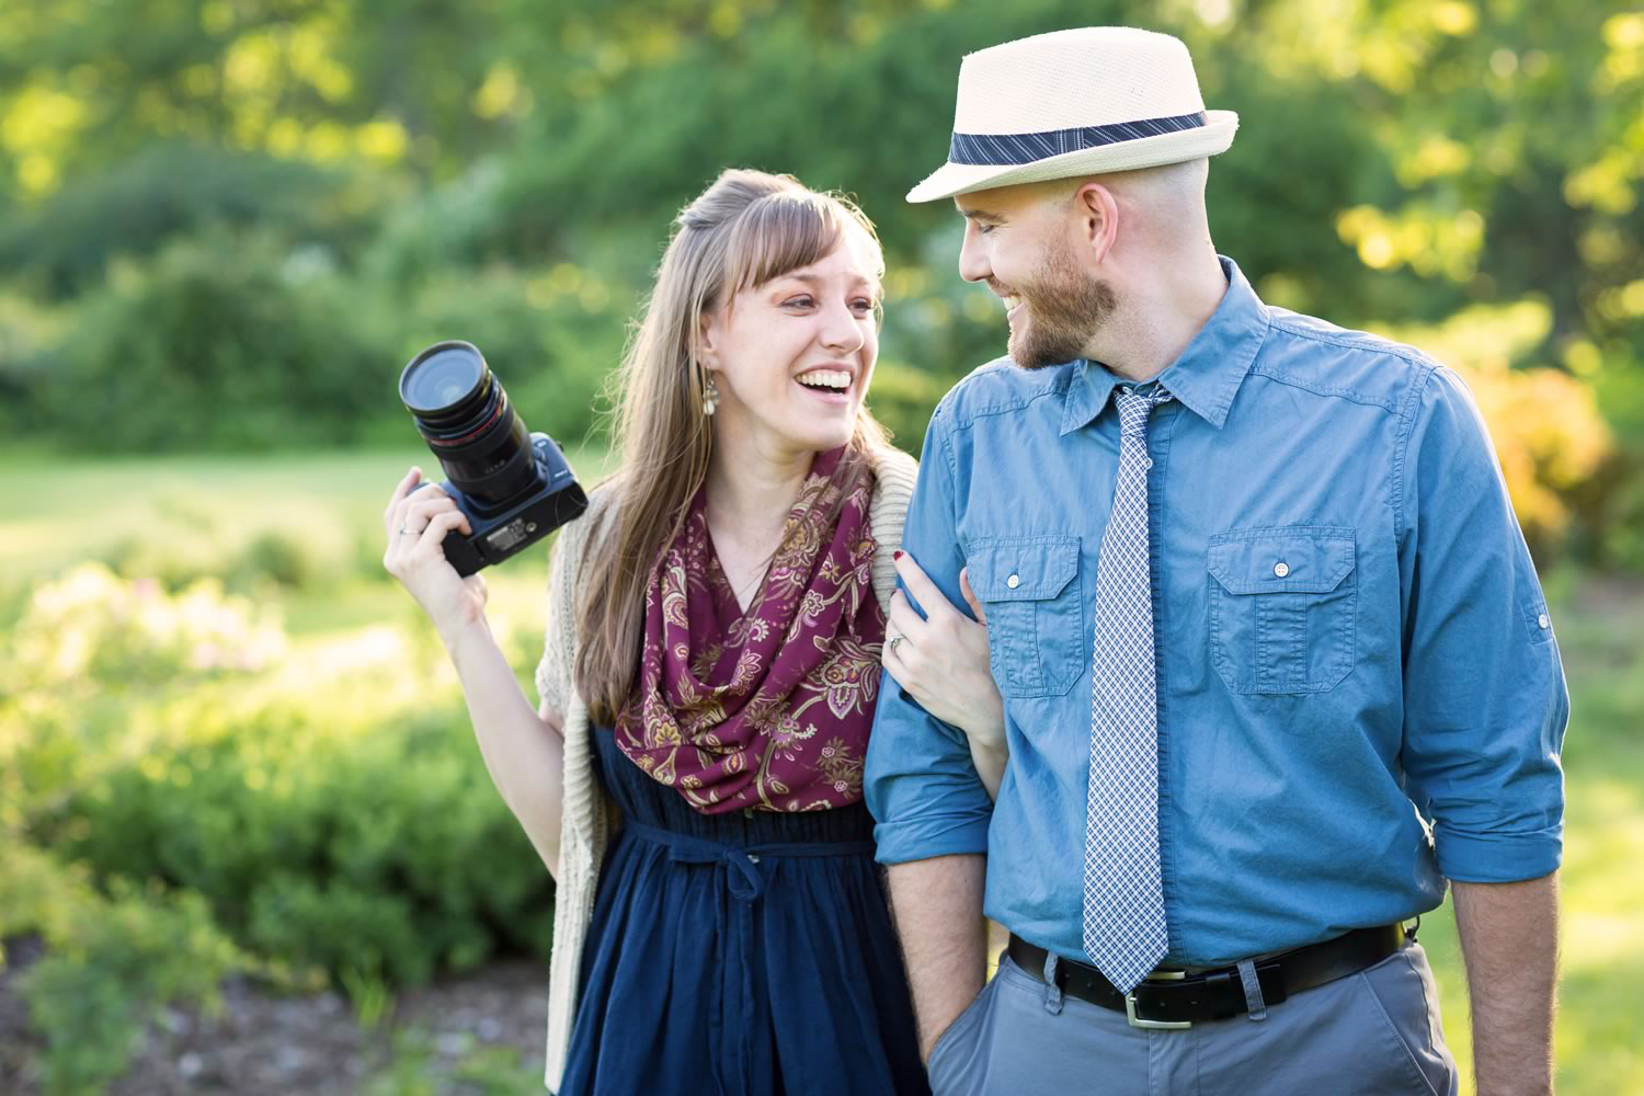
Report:
[[1327,692],[1353,672],[1353,529],[1282,526],[1210,537],[1210,664],[1236,693]]

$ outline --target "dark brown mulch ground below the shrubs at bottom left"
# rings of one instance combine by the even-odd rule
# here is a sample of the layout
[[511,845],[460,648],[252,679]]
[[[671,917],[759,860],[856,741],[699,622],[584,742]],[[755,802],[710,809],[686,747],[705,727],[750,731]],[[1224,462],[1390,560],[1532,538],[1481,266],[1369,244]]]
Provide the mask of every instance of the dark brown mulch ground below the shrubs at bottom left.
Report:
[[[0,1096],[39,1096],[35,1057],[41,1038],[28,1029],[16,978],[41,955],[35,940],[7,942],[0,969]],[[380,1024],[363,1029],[335,992],[271,994],[245,979],[222,986],[224,1009],[201,1015],[164,1009],[143,1032],[110,1096],[233,1093],[235,1096],[347,1096],[380,1073],[396,1038],[414,1034],[419,1073],[447,1078],[441,1093],[462,1093],[452,1078],[475,1050],[516,1048],[524,1068],[543,1071],[547,968],[498,963],[403,992]]]

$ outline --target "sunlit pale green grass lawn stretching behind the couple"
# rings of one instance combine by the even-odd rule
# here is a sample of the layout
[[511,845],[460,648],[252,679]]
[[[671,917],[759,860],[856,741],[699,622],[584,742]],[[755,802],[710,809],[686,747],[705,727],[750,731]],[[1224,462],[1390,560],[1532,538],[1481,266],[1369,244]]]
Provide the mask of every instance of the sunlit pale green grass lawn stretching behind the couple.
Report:
[[[278,596],[294,656],[372,626],[401,623],[404,595],[373,575],[381,509],[399,475],[434,465],[421,449],[311,457],[181,457],[61,462],[0,455],[12,504],[0,516],[0,588],[10,601],[84,559],[155,559],[179,573],[232,572],[275,536],[311,575]],[[572,454],[585,483],[600,452]],[[215,570],[214,570],[215,569]],[[493,605],[539,613],[538,547],[487,572]],[[1644,1093],[1644,583],[1560,575],[1557,634],[1573,695],[1565,749],[1563,989],[1559,1088]],[[516,600],[518,598],[518,600]],[[1450,1045],[1468,1061],[1465,983],[1448,909],[1422,922]],[[1463,1091],[1471,1091],[1463,1083]]]

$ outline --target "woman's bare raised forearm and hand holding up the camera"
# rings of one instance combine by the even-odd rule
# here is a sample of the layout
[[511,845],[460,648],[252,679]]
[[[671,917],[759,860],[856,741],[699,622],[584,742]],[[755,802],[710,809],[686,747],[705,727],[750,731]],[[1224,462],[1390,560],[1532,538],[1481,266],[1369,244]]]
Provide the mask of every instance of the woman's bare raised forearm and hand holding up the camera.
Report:
[[546,703],[534,710],[485,618],[485,580],[462,578],[446,560],[450,529],[469,527],[437,485],[418,486],[413,468],[383,513],[383,567],[418,600],[457,667],[473,738],[508,810],[549,873],[559,871],[559,804],[564,787],[564,720]]

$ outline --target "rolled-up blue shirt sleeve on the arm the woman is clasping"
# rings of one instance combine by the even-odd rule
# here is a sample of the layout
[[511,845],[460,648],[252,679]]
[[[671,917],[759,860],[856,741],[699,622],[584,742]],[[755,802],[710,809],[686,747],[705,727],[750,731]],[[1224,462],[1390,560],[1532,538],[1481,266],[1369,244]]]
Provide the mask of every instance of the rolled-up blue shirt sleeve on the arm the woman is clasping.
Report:
[[[939,408],[926,434],[903,550],[952,605],[965,605],[958,588],[965,557],[955,532],[954,465],[944,434],[949,426]],[[865,772],[880,863],[986,853],[993,804],[970,762],[963,731],[926,713],[889,674],[881,682]]]

